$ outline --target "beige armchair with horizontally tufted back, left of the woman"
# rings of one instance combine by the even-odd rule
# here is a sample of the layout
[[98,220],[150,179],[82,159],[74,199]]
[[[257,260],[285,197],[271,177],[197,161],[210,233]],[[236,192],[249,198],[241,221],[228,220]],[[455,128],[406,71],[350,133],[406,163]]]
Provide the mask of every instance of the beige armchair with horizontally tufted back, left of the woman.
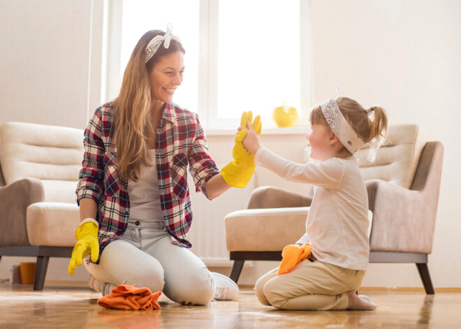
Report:
[[71,257],[82,138],[80,129],[0,126],[0,259],[35,256],[34,290],[43,289],[50,257]]

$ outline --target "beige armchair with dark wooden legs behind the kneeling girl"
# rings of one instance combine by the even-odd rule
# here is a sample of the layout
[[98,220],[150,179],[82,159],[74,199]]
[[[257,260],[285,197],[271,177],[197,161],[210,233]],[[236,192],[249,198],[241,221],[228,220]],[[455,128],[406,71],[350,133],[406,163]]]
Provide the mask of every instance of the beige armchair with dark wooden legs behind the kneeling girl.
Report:
[[[371,263],[416,263],[426,293],[434,293],[427,255],[432,252],[443,145],[426,142],[420,127],[390,126],[388,145],[369,163],[367,149],[356,157],[368,191],[372,219]],[[257,175],[257,173],[256,173]],[[237,282],[244,261],[279,261],[281,250],[305,233],[310,196],[259,187],[247,210],[225,217],[226,245]]]

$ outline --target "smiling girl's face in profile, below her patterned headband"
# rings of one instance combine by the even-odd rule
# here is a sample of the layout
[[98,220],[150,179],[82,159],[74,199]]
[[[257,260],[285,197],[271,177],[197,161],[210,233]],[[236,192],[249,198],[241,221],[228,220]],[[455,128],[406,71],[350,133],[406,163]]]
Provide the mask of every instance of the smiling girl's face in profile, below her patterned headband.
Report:
[[306,136],[311,145],[310,157],[314,160],[325,161],[335,155],[332,140],[335,134],[323,124],[312,124],[311,131]]

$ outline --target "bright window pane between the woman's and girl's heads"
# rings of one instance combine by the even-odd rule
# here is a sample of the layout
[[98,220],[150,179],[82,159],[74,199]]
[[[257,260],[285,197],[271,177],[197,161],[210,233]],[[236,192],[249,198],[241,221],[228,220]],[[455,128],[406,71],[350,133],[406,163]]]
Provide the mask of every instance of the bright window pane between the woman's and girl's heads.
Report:
[[270,118],[282,102],[299,109],[299,1],[221,0],[218,22],[220,126],[244,110]]

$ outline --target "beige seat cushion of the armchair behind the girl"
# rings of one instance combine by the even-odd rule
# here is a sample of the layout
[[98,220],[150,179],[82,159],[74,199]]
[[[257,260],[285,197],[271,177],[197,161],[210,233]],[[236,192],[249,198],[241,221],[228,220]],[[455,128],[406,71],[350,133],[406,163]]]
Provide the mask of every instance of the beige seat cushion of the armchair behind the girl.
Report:
[[282,251],[306,232],[309,207],[247,209],[224,217],[228,251]]

